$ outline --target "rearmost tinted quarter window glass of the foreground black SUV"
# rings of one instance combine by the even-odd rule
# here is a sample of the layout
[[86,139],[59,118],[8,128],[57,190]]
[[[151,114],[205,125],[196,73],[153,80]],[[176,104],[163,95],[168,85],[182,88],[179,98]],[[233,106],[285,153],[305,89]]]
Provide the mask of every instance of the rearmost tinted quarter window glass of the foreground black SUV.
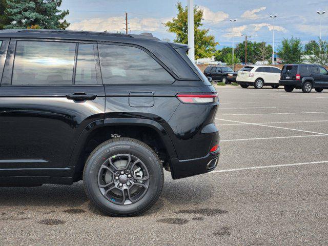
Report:
[[172,84],[172,76],[144,50],[99,45],[104,84]]

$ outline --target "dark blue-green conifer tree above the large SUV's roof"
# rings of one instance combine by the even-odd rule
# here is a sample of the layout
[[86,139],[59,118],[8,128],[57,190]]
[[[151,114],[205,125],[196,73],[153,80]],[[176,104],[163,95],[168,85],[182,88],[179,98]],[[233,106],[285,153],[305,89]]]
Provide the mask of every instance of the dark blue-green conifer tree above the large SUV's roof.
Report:
[[6,29],[38,26],[42,29],[66,29],[70,23],[65,16],[68,10],[59,10],[62,0],[7,0],[10,24]]

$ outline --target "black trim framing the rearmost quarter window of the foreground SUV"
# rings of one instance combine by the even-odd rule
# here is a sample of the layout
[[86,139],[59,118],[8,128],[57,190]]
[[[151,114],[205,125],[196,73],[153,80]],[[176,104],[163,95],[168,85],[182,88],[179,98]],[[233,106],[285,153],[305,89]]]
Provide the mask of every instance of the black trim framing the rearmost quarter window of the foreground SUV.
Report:
[[[105,42],[105,41],[98,41],[97,45],[120,45],[120,46],[130,46],[130,47],[134,47],[134,48],[138,48],[140,50],[145,51],[148,55],[150,55],[158,64],[159,66],[161,66],[164,70],[166,70],[167,73],[169,73],[171,75],[171,77],[173,78],[173,82],[171,84],[146,84],[146,85],[156,85],[156,86],[165,86],[165,85],[172,85],[176,80],[179,80],[179,78],[165,65],[162,63],[162,61],[160,59],[158,59],[152,52],[150,52],[149,50],[147,50],[146,48],[139,46],[139,45],[135,45],[135,44],[130,44],[130,43],[120,43],[120,42]],[[99,64],[100,64],[100,53],[99,53],[99,47],[98,47],[98,57],[99,57]],[[101,64],[100,64],[100,71],[101,71]],[[103,76],[101,76],[103,77]],[[104,81],[103,81],[104,84]],[[131,85],[145,85],[145,84],[104,84],[106,86],[131,86]]]

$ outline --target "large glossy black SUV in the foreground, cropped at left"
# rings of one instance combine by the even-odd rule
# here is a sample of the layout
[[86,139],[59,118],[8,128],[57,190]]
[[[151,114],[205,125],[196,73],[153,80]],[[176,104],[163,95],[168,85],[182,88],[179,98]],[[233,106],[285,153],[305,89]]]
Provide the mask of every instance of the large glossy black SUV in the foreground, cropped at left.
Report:
[[217,92],[188,46],[57,30],[4,30],[0,44],[1,186],[84,180],[101,211],[129,216],[158,199],[163,168],[217,166]]

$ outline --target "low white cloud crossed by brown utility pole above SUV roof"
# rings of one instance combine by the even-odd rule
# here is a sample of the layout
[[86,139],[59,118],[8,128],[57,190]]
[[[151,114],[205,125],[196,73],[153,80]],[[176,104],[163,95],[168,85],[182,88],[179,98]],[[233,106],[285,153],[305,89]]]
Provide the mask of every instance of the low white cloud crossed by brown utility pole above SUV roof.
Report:
[[[167,19],[165,18],[131,18],[129,19],[129,28],[133,32],[155,32],[165,31],[162,25]],[[84,19],[80,22],[72,23],[69,30],[84,30],[84,31],[105,31],[108,32],[125,32],[124,17],[109,17],[109,18],[91,18]]]

